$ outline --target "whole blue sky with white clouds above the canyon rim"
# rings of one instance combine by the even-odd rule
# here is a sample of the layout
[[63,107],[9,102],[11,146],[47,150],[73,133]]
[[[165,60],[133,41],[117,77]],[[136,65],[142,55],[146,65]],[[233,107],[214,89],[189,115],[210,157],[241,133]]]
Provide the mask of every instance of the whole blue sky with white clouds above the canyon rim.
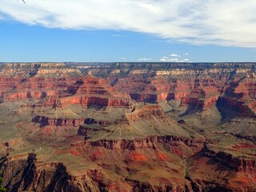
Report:
[[253,0],[1,0],[0,62],[256,62]]

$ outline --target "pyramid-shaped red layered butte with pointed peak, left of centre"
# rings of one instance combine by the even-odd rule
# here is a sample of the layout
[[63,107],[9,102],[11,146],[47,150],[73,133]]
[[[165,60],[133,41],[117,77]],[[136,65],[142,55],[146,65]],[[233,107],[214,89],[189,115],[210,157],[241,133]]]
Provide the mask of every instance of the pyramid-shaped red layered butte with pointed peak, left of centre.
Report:
[[107,84],[103,78],[95,78],[88,74],[85,78],[78,80],[64,93],[65,97],[55,100],[55,106],[66,107],[69,105],[101,107],[129,107],[130,97],[121,94],[112,86]]

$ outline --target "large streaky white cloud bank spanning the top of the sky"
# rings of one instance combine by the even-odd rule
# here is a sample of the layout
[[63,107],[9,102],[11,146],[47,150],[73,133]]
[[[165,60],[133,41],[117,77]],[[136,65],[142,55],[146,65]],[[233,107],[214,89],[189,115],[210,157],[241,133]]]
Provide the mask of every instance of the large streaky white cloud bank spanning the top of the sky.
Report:
[[171,42],[256,47],[254,0],[1,0],[0,14],[28,25],[132,30]]

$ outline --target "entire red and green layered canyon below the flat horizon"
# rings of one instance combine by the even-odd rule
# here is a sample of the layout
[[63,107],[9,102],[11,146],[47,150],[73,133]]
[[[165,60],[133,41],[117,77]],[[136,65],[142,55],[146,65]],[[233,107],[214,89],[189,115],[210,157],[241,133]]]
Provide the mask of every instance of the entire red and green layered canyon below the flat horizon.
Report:
[[3,63],[8,191],[255,191],[256,63]]

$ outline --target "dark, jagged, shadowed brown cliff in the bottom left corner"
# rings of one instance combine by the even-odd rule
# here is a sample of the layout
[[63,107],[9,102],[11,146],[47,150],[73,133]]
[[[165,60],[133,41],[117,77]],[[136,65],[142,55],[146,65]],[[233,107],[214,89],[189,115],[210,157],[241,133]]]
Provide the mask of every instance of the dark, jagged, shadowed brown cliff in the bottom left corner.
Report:
[[87,176],[67,173],[61,162],[40,163],[36,154],[27,159],[1,162],[3,186],[8,191],[98,191],[98,186]]

